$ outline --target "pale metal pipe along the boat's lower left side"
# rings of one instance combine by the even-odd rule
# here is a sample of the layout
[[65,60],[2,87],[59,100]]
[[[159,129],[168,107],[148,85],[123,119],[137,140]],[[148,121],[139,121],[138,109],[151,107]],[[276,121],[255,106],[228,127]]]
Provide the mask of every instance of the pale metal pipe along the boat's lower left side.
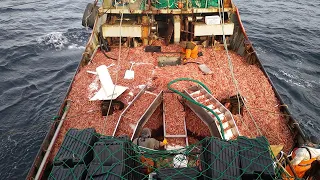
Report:
[[71,101],[67,100],[66,110],[64,111],[64,113],[62,115],[62,118],[61,118],[61,120],[59,122],[59,125],[58,125],[58,127],[57,127],[57,129],[56,129],[56,131],[55,131],[55,133],[54,133],[54,135],[52,137],[52,139],[51,139],[51,142],[50,142],[50,145],[49,145],[49,147],[48,147],[48,149],[46,151],[46,154],[44,155],[44,157],[42,159],[42,162],[41,162],[40,167],[39,167],[39,169],[37,171],[36,177],[34,178],[35,180],[40,179],[41,176],[42,176],[42,171],[45,168],[45,165],[46,165],[47,159],[48,159],[48,157],[50,155],[50,152],[52,150],[52,147],[53,147],[53,145],[54,145],[54,143],[55,143],[55,141],[56,141],[56,139],[58,137],[58,134],[59,134],[59,131],[60,131],[61,127],[62,127],[62,124],[63,124],[63,122],[64,122],[64,120],[65,120],[65,118],[67,116],[67,113],[68,113],[68,110],[69,110],[69,107],[70,107],[70,103],[71,103]]

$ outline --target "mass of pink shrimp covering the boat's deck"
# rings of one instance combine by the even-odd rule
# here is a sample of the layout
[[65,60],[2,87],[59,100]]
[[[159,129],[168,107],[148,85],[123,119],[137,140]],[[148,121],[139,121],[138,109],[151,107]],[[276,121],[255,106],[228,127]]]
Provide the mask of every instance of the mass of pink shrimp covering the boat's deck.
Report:
[[[163,42],[158,41],[153,45],[163,45]],[[205,63],[213,71],[213,74],[204,75],[199,70],[198,65],[193,63],[158,67],[158,56],[179,56],[179,54],[150,53],[145,52],[144,47],[122,47],[120,60],[117,61],[106,58],[98,50],[92,61],[80,68],[80,71],[75,76],[71,91],[67,97],[72,103],[59,132],[57,142],[54,145],[50,156],[51,159],[57,153],[69,128],[83,129],[93,127],[100,134],[112,135],[122,111],[115,111],[114,114],[103,117],[100,109],[101,102],[89,101],[100,89],[100,82],[97,75],[87,71],[95,71],[96,67],[100,65],[110,66],[108,70],[115,84],[129,88],[118,97],[118,100],[124,102],[125,105],[128,105],[133,100],[140,91],[141,85],[152,87],[152,92],[157,94],[161,91],[168,91],[167,84],[173,79],[182,77],[193,78],[203,82],[218,100],[237,94],[230,73],[226,51],[201,47],[199,49],[203,56],[197,58],[196,61]],[[162,51],[177,52],[180,51],[180,47],[178,45],[162,46]],[[113,48],[107,54],[110,57],[118,58],[119,49]],[[229,51],[229,54],[233,63],[234,76],[239,84],[239,90],[241,95],[245,97],[246,105],[249,107],[249,110],[244,109],[243,116],[234,115],[240,134],[247,137],[264,135],[270,144],[282,144],[284,145],[284,150],[288,151],[294,142],[291,132],[286,126],[286,119],[280,115],[279,101],[275,97],[268,78],[265,77],[259,67],[248,65],[240,55],[232,51]],[[123,77],[125,71],[131,66],[130,62],[135,62],[133,66],[135,77],[133,80],[125,80]],[[116,80],[117,73],[118,79]],[[179,82],[174,87],[182,91],[191,85],[194,84]],[[148,100],[146,99],[145,101]],[[139,108],[136,111],[139,111]],[[250,117],[249,111],[254,120]],[[126,118],[134,119],[136,117]],[[158,108],[145,127],[151,129],[161,128],[163,125],[162,118],[163,113]],[[189,108],[185,109],[185,121],[188,132],[197,136],[210,136],[207,126]],[[174,123],[169,124],[174,125]],[[125,132],[125,129],[123,132]],[[189,138],[189,144],[195,141],[195,138]]]

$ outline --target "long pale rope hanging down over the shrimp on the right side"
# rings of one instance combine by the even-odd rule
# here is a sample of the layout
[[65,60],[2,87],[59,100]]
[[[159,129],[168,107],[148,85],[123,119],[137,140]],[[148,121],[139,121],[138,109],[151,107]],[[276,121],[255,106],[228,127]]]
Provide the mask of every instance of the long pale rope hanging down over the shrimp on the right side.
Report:
[[[232,81],[236,87],[236,91],[237,91],[237,99],[238,99],[238,110],[239,110],[239,113],[240,113],[240,98],[241,100],[243,101],[243,104],[244,104],[244,107],[246,108],[251,120],[253,121],[253,124],[255,125],[255,127],[257,128],[257,131],[260,135],[262,135],[262,132],[259,128],[259,126],[257,125],[256,121],[254,120],[250,110],[249,110],[249,107],[247,106],[247,104],[245,103],[244,99],[242,97],[239,97],[239,94],[240,94],[240,89],[239,89],[239,85],[238,85],[238,81],[236,80],[235,76],[234,76],[234,71],[233,71],[233,64],[232,64],[232,60],[231,60],[231,57],[229,55],[229,51],[228,51],[228,47],[227,47],[227,42],[226,42],[226,36],[224,34],[224,5],[223,5],[223,0],[219,0],[219,16],[221,18],[221,8],[222,7],[222,37],[223,37],[223,45],[224,45],[224,48],[226,50],[226,54],[227,54],[227,58],[228,58],[228,64],[229,64],[229,69],[230,69],[230,73],[231,73],[231,77],[232,77]],[[242,118],[240,116],[240,119],[242,121]]]

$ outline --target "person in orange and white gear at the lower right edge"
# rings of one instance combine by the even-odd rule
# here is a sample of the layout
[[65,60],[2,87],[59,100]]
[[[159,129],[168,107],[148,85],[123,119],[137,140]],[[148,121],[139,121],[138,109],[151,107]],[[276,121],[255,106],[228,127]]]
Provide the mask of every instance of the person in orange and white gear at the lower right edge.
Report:
[[[311,136],[308,144],[293,150],[292,158],[291,164],[298,178],[302,178],[305,172],[310,169],[311,163],[320,158],[320,139]],[[286,170],[293,176],[288,166]]]

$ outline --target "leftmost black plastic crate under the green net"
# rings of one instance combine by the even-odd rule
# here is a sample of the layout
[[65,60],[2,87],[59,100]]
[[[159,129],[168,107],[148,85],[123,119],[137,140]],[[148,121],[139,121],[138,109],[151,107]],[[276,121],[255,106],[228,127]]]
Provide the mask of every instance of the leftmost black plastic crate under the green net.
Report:
[[93,128],[69,129],[53,164],[68,166],[79,163],[88,164],[92,159],[92,147],[96,141],[96,131]]

